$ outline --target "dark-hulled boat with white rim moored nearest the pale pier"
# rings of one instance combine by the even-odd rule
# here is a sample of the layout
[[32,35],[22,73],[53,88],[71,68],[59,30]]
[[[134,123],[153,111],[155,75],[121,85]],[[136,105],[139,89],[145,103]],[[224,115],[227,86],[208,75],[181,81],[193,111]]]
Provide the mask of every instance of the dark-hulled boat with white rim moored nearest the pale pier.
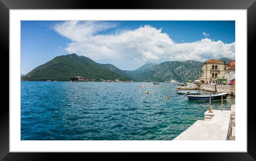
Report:
[[215,100],[221,100],[221,97],[223,100],[225,100],[228,96],[228,92],[226,93],[217,93],[217,94],[207,94],[207,95],[187,95],[188,100],[195,100],[195,101],[211,101]]

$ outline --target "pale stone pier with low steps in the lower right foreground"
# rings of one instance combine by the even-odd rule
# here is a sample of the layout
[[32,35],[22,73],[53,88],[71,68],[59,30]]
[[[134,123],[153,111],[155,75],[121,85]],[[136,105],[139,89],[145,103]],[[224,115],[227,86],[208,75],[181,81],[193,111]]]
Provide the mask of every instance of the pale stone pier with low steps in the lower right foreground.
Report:
[[173,140],[235,140],[235,104],[229,110],[212,110]]

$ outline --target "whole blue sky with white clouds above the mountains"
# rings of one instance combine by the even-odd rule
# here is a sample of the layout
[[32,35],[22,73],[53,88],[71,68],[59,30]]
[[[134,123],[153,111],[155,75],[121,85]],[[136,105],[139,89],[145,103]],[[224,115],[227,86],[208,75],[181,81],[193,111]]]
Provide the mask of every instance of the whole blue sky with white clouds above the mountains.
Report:
[[235,59],[235,21],[21,21],[21,74],[73,53],[122,70]]

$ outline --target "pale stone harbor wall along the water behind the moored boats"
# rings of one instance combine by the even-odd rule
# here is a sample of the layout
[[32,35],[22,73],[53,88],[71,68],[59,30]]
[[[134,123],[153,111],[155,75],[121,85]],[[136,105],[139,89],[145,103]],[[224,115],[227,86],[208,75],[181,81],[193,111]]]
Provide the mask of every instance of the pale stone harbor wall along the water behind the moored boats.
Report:
[[[214,84],[201,84],[200,88],[204,91],[215,92]],[[234,85],[216,85],[217,93],[228,92],[230,95],[235,96],[235,86]]]

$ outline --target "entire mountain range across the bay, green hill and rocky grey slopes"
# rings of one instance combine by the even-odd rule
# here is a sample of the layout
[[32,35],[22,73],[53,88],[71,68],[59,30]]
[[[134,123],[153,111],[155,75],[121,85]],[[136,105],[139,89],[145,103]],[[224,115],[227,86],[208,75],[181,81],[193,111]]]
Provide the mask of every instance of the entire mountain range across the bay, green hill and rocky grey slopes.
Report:
[[[231,59],[221,58],[228,64]],[[122,81],[188,81],[195,80],[201,74],[200,66],[203,62],[166,61],[160,64],[146,63],[136,70],[120,70],[112,64],[96,63],[90,58],[68,54],[55,57],[53,60],[40,65],[22,77],[23,80],[58,80],[69,81],[73,76],[85,76],[87,79]]]

